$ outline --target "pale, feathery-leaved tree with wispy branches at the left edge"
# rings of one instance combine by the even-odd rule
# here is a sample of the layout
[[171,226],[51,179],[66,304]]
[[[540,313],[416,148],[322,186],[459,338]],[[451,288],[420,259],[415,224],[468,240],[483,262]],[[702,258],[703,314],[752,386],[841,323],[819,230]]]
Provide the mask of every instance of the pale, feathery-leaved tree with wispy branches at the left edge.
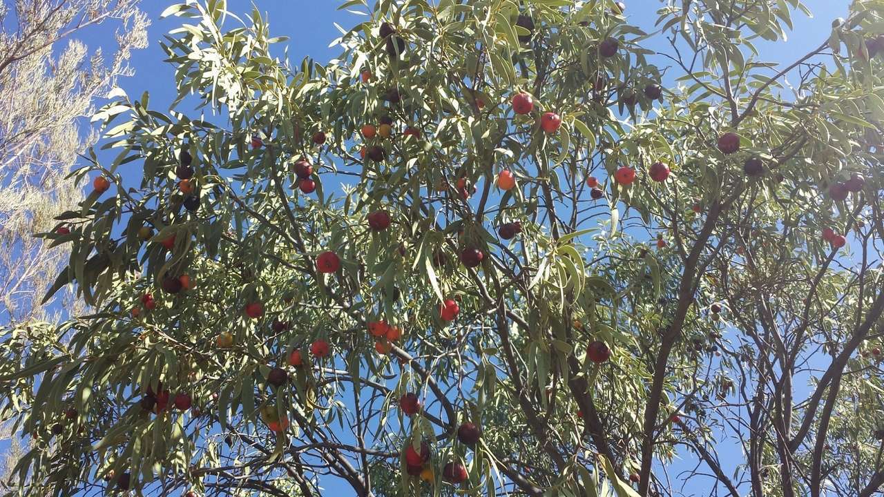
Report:
[[[0,5],[0,322],[45,319],[34,305],[63,267],[63,250],[34,238],[82,199],[68,178],[77,154],[95,142],[91,115],[121,75],[131,50],[146,46],[137,0],[26,0]],[[118,50],[105,60],[72,40],[84,28],[118,21]],[[69,40],[61,50],[59,44]],[[53,50],[58,50],[53,53]]]

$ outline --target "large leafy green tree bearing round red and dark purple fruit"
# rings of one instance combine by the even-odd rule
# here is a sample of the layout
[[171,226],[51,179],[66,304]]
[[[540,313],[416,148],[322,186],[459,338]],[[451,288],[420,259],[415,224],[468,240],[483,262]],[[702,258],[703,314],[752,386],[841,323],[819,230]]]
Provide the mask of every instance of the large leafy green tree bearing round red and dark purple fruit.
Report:
[[212,118],[97,115],[20,495],[880,493],[884,3],[788,65],[797,0],[344,6],[293,67],[175,5]]

